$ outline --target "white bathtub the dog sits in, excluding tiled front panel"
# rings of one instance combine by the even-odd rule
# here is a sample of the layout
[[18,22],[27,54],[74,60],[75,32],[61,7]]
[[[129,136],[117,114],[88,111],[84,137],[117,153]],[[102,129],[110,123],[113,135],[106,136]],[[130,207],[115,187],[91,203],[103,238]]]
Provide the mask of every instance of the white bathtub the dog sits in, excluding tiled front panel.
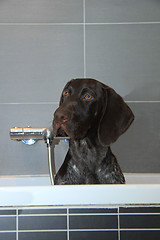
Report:
[[125,185],[51,186],[48,176],[1,177],[0,206],[160,203],[160,174],[125,174],[125,178]]

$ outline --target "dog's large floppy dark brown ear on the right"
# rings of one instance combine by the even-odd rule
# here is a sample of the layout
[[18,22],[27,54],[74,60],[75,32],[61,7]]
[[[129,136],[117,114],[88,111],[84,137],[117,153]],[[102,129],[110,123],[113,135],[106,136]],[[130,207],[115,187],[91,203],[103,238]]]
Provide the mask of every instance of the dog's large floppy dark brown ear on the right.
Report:
[[122,135],[134,120],[134,115],[122,97],[103,85],[105,101],[98,136],[102,145],[109,146]]

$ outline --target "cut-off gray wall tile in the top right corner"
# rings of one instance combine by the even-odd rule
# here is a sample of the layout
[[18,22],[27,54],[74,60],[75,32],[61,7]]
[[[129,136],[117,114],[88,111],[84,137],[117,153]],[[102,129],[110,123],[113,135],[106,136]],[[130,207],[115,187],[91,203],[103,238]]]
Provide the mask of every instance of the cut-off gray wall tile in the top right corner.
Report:
[[160,21],[160,2],[146,0],[86,0],[87,22]]

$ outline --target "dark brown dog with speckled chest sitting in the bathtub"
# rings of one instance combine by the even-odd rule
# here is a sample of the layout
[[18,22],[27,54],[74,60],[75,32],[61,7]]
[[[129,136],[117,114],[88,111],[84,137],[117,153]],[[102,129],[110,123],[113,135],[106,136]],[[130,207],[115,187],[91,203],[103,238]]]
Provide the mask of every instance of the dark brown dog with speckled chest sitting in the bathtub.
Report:
[[110,145],[134,115],[122,97],[95,79],[72,79],[54,113],[55,136],[69,136],[69,150],[55,184],[122,184],[121,168]]

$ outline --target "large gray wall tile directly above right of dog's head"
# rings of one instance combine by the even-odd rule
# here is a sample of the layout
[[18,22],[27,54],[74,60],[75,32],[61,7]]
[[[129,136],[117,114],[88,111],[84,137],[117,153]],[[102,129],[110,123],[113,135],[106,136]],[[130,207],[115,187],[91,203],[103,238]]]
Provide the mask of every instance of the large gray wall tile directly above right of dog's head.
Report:
[[160,24],[86,26],[87,77],[126,100],[159,100],[159,32]]

